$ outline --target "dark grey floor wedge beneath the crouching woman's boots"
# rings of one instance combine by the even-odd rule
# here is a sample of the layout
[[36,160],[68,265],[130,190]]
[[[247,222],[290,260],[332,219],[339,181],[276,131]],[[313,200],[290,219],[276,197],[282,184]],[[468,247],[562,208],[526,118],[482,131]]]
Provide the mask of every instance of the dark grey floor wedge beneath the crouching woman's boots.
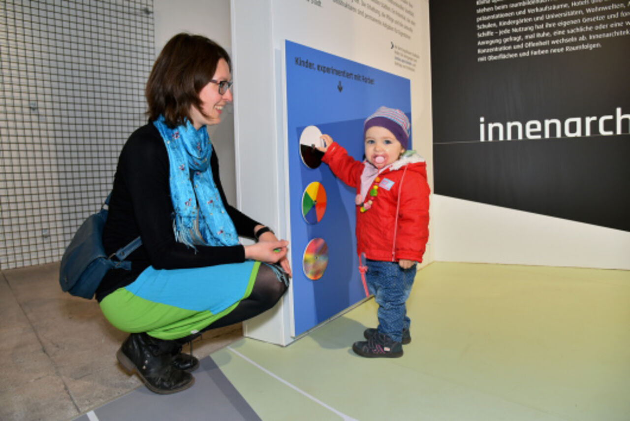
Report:
[[[156,395],[142,386],[96,408],[96,417],[99,421],[260,421],[212,358],[203,358],[193,375],[195,384],[190,389],[173,395]],[[88,417],[76,418],[79,420],[87,421]]]

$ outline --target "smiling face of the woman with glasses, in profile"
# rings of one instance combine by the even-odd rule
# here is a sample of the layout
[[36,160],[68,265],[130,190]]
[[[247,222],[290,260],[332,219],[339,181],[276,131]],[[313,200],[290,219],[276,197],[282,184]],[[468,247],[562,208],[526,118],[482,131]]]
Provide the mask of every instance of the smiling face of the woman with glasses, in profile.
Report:
[[[227,62],[224,59],[219,59],[217,63],[217,71],[214,72],[212,77],[217,82],[231,80],[230,67],[227,66]],[[214,82],[209,82],[201,91],[199,91],[199,99],[202,101],[201,109],[205,115],[197,110],[197,107],[190,107],[190,118],[192,120],[195,129],[200,129],[202,125],[213,125],[221,122],[221,113],[223,107],[228,102],[232,102],[232,92],[227,89],[226,92],[221,95],[219,93],[219,85]]]

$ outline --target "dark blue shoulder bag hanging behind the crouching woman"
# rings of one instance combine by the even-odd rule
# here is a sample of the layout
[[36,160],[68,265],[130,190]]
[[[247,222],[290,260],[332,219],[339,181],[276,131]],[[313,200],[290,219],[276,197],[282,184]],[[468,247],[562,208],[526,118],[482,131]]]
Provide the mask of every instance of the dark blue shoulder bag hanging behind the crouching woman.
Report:
[[92,299],[108,270],[131,269],[131,262],[125,262],[125,258],[142,245],[142,239],[138,236],[113,255],[108,257],[105,254],[103,227],[111,196],[110,193],[101,210],[90,215],[77,229],[61,259],[59,284],[62,291],[73,296]]

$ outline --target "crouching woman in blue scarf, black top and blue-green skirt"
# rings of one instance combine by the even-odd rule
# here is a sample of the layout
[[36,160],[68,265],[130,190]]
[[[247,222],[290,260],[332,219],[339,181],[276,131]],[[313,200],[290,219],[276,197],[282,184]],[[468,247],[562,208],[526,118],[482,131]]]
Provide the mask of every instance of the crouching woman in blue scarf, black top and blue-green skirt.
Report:
[[221,187],[206,126],[221,121],[231,85],[222,47],[171,38],[147,82],[149,124],[118,159],[103,243],[113,253],[140,236],[142,246],[127,258],[132,270],[108,272],[96,299],[131,333],[118,361],[156,393],[192,386],[199,363],[183,343],[271,308],[289,283],[288,242],[227,204]]

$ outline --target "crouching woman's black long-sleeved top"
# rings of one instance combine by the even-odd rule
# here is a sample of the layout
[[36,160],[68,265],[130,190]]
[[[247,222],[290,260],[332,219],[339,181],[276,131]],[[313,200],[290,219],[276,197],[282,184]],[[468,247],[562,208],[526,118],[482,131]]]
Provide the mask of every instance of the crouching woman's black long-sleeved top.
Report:
[[[219,179],[217,154],[210,158],[212,177],[239,236],[253,237],[259,223],[227,204]],[[197,251],[175,241],[173,202],[169,187],[169,162],[164,141],[153,124],[129,137],[123,146],[114,176],[109,213],[103,230],[108,255],[137,236],[142,246],[127,257],[131,270],[112,269],[96,290],[101,301],[107,294],[129,285],[149,265],[156,269],[193,268],[244,262],[245,250],[236,246],[197,246]]]

